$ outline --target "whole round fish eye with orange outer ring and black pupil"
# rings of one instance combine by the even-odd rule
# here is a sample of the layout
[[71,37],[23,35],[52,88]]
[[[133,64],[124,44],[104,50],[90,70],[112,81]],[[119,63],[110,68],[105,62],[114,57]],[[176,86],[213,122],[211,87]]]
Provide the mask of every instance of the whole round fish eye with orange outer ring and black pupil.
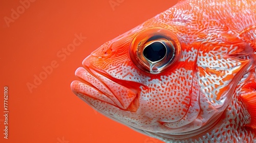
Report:
[[181,45],[173,32],[154,27],[139,32],[129,50],[137,67],[147,73],[159,74],[176,61]]

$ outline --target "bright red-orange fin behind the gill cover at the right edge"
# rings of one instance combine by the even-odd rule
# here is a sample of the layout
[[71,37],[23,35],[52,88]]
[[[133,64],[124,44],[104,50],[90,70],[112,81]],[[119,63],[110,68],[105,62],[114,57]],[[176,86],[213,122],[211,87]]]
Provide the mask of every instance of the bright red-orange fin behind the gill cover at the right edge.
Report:
[[243,93],[240,97],[251,117],[250,123],[246,126],[256,129],[256,91]]

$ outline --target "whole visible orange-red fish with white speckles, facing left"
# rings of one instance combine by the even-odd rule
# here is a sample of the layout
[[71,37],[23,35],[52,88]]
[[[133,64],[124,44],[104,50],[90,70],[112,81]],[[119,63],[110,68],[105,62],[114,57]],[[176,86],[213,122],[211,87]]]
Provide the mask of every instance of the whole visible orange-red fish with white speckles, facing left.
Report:
[[255,0],[181,0],[98,47],[71,89],[164,142],[256,142],[255,45]]

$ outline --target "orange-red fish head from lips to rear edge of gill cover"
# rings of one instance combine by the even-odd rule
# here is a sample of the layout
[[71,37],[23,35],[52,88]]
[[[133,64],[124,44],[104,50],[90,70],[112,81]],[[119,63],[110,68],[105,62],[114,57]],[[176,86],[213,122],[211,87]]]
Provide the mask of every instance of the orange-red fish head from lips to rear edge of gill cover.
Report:
[[101,45],[76,70],[73,92],[148,134],[189,137],[217,124],[253,49],[221,23],[206,28],[194,13],[177,13],[169,9]]

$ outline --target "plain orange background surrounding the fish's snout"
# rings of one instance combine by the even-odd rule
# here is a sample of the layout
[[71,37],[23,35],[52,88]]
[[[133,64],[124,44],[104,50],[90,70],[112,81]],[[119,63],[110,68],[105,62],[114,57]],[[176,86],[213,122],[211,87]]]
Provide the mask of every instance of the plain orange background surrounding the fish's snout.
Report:
[[[97,113],[73,94],[70,83],[76,79],[76,68],[97,47],[177,0],[111,0],[119,2],[115,7],[110,0],[30,1],[0,4],[0,142],[161,142]],[[73,43],[75,34],[87,38],[67,55],[61,50]],[[50,70],[52,62],[58,66]],[[49,74],[44,75],[43,66]],[[44,79],[35,85],[39,76]],[[34,86],[29,90],[27,84]],[[8,139],[4,139],[5,86]]]

